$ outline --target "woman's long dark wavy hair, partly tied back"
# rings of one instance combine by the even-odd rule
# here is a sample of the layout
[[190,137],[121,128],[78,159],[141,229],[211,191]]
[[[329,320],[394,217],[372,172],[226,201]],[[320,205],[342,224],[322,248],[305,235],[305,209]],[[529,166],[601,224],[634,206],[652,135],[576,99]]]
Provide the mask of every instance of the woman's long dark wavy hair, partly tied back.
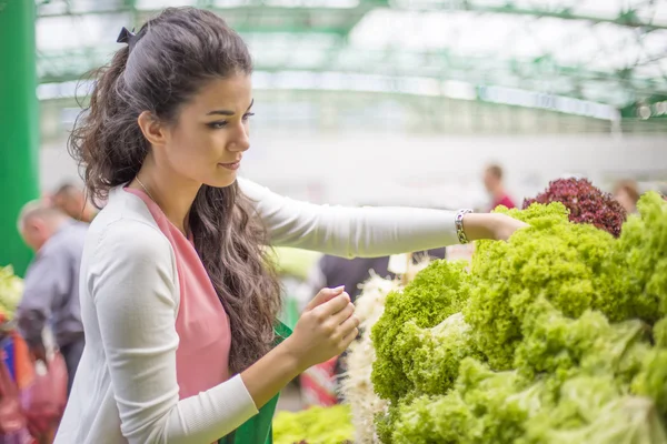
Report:
[[[252,72],[246,43],[217,14],[170,8],[149,20],[129,46],[94,73],[90,102],[69,139],[96,201],[130,182],[150,145],[137,119],[149,111],[176,122],[180,107],[207,81]],[[231,325],[230,370],[240,372],[275,340],[280,284],[268,259],[267,231],[235,183],[202,185],[189,213],[195,246]]]

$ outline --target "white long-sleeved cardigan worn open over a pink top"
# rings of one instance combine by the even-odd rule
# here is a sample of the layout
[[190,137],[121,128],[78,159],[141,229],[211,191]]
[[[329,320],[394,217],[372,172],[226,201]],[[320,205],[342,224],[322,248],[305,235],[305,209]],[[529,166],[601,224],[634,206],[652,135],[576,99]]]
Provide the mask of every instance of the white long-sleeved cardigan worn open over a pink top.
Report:
[[[355,258],[458,242],[452,212],[315,205],[238,182],[275,245]],[[87,343],[56,444],[209,444],[257,414],[239,375],[179,401],[175,254],[121,188],[90,225],[80,297]]]

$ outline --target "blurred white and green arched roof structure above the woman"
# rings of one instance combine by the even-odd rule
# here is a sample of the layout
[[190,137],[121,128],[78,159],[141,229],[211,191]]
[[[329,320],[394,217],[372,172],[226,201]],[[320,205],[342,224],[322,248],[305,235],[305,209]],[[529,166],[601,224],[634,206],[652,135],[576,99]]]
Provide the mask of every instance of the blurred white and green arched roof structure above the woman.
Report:
[[196,6],[218,12],[245,37],[257,88],[442,95],[608,120],[628,109],[667,114],[667,0],[37,4],[44,98],[107,63],[121,27],[138,27],[166,7]]

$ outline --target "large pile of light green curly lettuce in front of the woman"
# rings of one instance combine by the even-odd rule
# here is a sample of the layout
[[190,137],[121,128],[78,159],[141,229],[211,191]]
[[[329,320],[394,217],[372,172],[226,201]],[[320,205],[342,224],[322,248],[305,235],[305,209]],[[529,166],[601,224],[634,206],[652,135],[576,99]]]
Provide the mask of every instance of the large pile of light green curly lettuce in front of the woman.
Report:
[[667,202],[618,239],[560,202],[387,297],[371,337],[382,443],[667,444]]

